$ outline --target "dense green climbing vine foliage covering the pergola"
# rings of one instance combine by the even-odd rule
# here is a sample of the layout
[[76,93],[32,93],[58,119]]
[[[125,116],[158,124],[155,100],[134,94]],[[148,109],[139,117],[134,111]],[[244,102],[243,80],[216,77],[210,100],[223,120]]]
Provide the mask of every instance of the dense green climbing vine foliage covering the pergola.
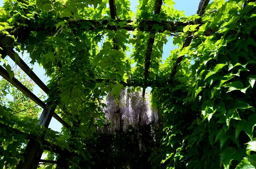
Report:
[[[96,129],[105,119],[101,109],[105,105],[99,100],[108,93],[119,96],[128,77],[140,82],[155,80],[160,86],[152,85],[152,105],[159,110],[163,125],[155,134],[154,149],[151,147],[152,168],[255,169],[256,3],[214,0],[202,17],[185,16],[173,8],[172,0],[164,0],[160,14],[153,12],[154,0],[139,0],[136,14],[128,0],[115,3],[118,20],[111,19],[108,0],[6,0],[0,9],[0,49],[9,47],[1,39],[11,37],[17,51],[26,50],[32,62],[44,66],[51,77],[49,98],[58,101],[55,112],[72,126],[63,128],[61,134],[48,129],[47,141],[72,154],[67,158],[71,168],[96,167],[96,160],[90,159],[97,151],[91,145],[99,141]],[[122,20],[131,19],[134,21],[129,24],[135,31],[122,29],[127,26]],[[117,30],[84,20],[108,20],[109,26]],[[180,31],[173,34],[173,42],[179,49],[171,51],[163,64],[163,44],[171,32],[163,31],[159,24],[151,30],[157,32],[155,35],[143,32],[142,20],[163,22],[167,27],[170,25],[166,21],[195,24],[177,29]],[[146,24],[143,29],[147,29]],[[193,40],[183,48],[188,35]],[[150,37],[155,39],[149,77],[145,79]],[[128,44],[133,47],[131,56],[126,54]],[[183,60],[171,77],[180,57]],[[13,77],[7,61],[1,61],[5,61],[6,70]],[[29,81],[23,84],[32,89]],[[0,168],[12,168],[22,160],[23,145],[27,143],[26,134],[16,132],[40,135],[44,129],[36,126],[37,108],[9,115],[35,104],[6,81],[2,80],[0,86],[2,98],[10,93],[19,100],[1,100],[0,107],[0,122],[5,125],[0,126],[0,152],[4,153]],[[115,139],[121,142],[122,137]],[[53,160],[54,156],[60,157],[49,153],[48,158]]]

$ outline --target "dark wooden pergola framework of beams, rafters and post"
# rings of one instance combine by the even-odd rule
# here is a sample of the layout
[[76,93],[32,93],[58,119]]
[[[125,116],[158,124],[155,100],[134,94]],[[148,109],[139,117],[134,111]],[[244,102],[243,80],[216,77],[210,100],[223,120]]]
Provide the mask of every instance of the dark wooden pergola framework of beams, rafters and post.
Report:
[[[26,3],[25,1],[20,0],[22,3]],[[204,10],[209,3],[209,0],[201,0],[199,4],[199,8],[197,11],[197,14],[199,16],[202,16],[204,14]],[[156,0],[155,1],[155,9],[154,9],[154,14],[158,15],[160,14],[161,6],[163,4],[163,0]],[[70,25],[74,27],[81,27],[83,25],[87,25],[87,28],[84,29],[86,31],[88,30],[93,30],[95,27],[100,27],[102,29],[108,29],[108,30],[113,30],[116,31],[117,29],[126,29],[128,31],[134,31],[137,29],[137,27],[131,26],[133,20],[119,20],[118,16],[116,15],[116,5],[115,5],[115,0],[109,0],[109,7],[110,7],[110,14],[111,14],[111,20],[80,20],[77,22],[71,22]],[[68,18],[67,18],[68,19]],[[113,26],[111,23],[120,23],[120,22],[125,22],[124,26]],[[57,32],[58,30],[53,27],[53,28],[47,28],[44,30],[44,27],[42,26],[38,30],[32,30],[29,27],[29,20],[25,20],[24,24],[27,24],[28,27],[25,29],[20,29],[17,30],[13,35],[17,38],[18,42],[23,42],[26,37],[30,34],[32,31],[45,31],[47,33],[49,32]],[[141,86],[143,87],[143,97],[145,96],[145,88],[148,86],[162,86],[167,82],[158,82],[156,81],[150,81],[148,80],[149,77],[149,69],[151,66],[151,54],[152,50],[154,48],[154,40],[155,40],[155,35],[156,31],[154,30],[154,25],[159,25],[163,26],[163,29],[159,29],[158,32],[164,32],[164,31],[169,31],[168,34],[170,35],[175,35],[173,33],[175,32],[180,32],[180,26],[187,26],[191,24],[201,24],[201,20],[195,20],[193,22],[170,22],[170,21],[155,21],[155,20],[142,20],[140,21],[138,27],[140,28],[140,31],[147,31],[151,32],[151,37],[149,38],[147,42],[147,48],[146,48],[146,54],[145,54],[145,65],[144,65],[144,80],[131,80],[128,83],[121,82],[124,86]],[[146,25],[146,26],[145,26]],[[89,27],[88,27],[89,26]],[[189,46],[192,40],[192,33],[189,34],[189,37],[186,38],[183,48],[186,46]],[[3,46],[3,50],[0,51],[2,54],[2,58],[5,58],[6,56],[9,56],[12,60],[16,61],[18,66],[26,73],[28,76],[46,93],[49,94],[50,90],[49,88],[40,80],[39,77],[29,68],[29,66],[26,65],[26,63],[20,58],[15,56],[15,51],[13,50],[13,43],[14,40],[12,37],[5,36],[4,34],[0,35],[0,45]],[[8,46],[8,47],[5,47]],[[116,38],[113,38],[113,49],[119,50],[119,46],[116,44]],[[17,62],[17,59],[20,60]],[[176,60],[174,70],[172,71],[172,74],[170,75],[171,77],[175,76],[175,73],[177,72],[177,67],[183,60],[183,56],[179,57]],[[44,111],[41,114],[40,117],[40,122],[38,125],[42,125],[45,128],[48,128],[49,122],[52,117],[54,117],[56,120],[58,120],[63,126],[65,126],[67,129],[70,128],[70,124],[66,123],[59,115],[55,113],[55,108],[56,105],[58,105],[58,101],[56,100],[51,100],[48,101],[47,103],[44,103],[42,100],[40,100],[38,97],[36,97],[29,89],[27,89],[25,86],[23,86],[22,83],[20,83],[15,77],[12,77],[9,75],[9,73],[4,69],[2,66],[0,67],[0,75],[8,80],[10,83],[12,83],[13,86],[15,86],[17,89],[19,89],[23,94],[25,94],[27,97],[29,97],[31,100],[33,100],[35,103],[37,103],[39,106],[41,106]],[[102,82],[103,80],[108,81],[106,79],[98,79],[98,80],[89,80],[87,83],[90,82]],[[65,111],[65,110],[63,110]],[[16,131],[17,133],[20,131]],[[65,160],[66,158],[71,158],[71,155],[67,153],[67,150],[61,150],[58,145],[52,146],[50,143],[44,140],[44,134],[41,137],[35,137],[35,136],[29,136],[29,143],[26,146],[26,154],[25,154],[25,160],[20,161],[20,163],[17,165],[17,169],[36,169],[38,166],[39,162],[44,162],[44,163],[57,163],[57,166],[59,167],[68,167],[69,164]],[[44,143],[44,150],[52,151],[55,153],[59,154],[67,154],[64,157],[60,158],[58,161],[52,161],[52,160],[42,160],[41,155],[43,153],[43,149],[40,147],[40,141]]]

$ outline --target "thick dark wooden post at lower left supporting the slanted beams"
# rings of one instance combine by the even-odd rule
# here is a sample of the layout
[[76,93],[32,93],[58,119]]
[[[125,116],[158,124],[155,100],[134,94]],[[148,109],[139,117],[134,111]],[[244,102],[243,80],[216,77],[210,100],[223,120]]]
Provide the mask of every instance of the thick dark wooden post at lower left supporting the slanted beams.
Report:
[[[53,105],[52,102],[48,102],[40,116],[40,121],[38,122],[38,125],[42,125],[45,128],[48,128],[55,108],[56,106]],[[44,151],[44,146],[42,143],[40,143],[41,140],[44,140],[44,136],[45,132],[41,137],[38,136],[29,140],[29,143],[26,146],[24,161],[20,161],[18,163],[17,169],[37,169],[38,163]]]

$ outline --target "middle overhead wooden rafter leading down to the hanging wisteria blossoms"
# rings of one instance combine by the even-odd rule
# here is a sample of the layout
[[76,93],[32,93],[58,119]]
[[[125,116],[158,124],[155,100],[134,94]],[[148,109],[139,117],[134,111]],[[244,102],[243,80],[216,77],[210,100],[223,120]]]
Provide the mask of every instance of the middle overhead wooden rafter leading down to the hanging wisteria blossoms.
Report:
[[[156,0],[155,1],[154,14],[160,14],[162,3],[163,3],[162,0]],[[147,44],[147,49],[146,49],[146,54],[145,54],[145,67],[144,67],[144,81],[145,81],[145,83],[147,83],[148,76],[149,76],[149,68],[150,68],[150,63],[151,63],[151,54],[152,54],[152,50],[153,50],[155,34],[156,34],[156,32],[154,32],[153,36],[149,38],[148,44]],[[142,92],[143,97],[145,97],[145,90],[146,89],[143,88],[143,92]]]

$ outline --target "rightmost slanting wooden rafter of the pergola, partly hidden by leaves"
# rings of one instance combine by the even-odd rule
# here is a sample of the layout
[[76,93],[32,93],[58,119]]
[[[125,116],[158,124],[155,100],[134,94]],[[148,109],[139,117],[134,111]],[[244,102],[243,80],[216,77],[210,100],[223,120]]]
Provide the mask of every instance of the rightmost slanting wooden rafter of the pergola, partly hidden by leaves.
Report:
[[[206,6],[208,5],[209,0],[201,0],[198,6],[198,10],[197,10],[197,14],[199,16],[202,16],[204,14],[204,11],[206,9]],[[201,20],[195,20],[195,23],[201,23]],[[191,41],[192,41],[193,35],[192,32],[188,33],[188,37],[185,39],[182,49],[189,46]],[[179,57],[174,65],[173,71],[171,73],[171,78],[173,78],[175,76],[175,74],[177,73],[177,66],[181,63],[181,61],[183,60],[184,56]]]

